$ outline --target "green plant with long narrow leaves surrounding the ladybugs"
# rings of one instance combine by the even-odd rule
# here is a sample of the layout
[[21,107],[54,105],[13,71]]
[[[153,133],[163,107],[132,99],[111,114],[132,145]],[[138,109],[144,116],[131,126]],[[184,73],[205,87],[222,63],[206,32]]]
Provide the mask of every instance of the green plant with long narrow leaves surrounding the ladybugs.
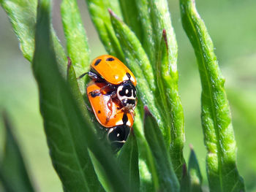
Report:
[[[195,154],[192,152],[189,158],[189,172],[183,157],[178,50],[167,1],[87,0],[105,49],[124,61],[138,80],[134,133],[118,155],[97,138],[97,123],[91,123],[83,95],[88,80],[76,80],[89,69],[90,60],[76,1],[64,0],[61,4],[67,55],[72,60],[68,67],[50,24],[49,0],[39,1],[37,9],[37,1],[0,2],[20,39],[24,56],[31,61],[50,155],[64,191],[201,191]],[[236,142],[224,80],[211,39],[195,4],[191,0],[181,0],[180,4],[202,82],[209,188],[244,191],[236,169]],[[132,5],[134,9],[129,9]]]

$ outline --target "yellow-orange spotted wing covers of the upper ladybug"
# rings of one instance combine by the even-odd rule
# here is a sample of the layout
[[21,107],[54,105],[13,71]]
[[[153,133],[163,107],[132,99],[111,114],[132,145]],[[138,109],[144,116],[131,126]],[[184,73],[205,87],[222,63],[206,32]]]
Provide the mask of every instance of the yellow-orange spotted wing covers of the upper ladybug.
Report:
[[118,85],[124,80],[129,80],[127,73],[131,75],[130,80],[136,86],[134,74],[118,58],[112,55],[101,55],[91,62],[91,68],[96,70],[100,76],[113,85]]

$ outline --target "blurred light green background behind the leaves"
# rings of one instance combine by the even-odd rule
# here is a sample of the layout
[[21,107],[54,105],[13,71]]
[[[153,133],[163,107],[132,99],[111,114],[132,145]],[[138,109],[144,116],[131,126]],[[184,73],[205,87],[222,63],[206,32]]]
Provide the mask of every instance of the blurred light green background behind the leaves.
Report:
[[[53,26],[62,45],[64,33],[59,15],[60,0],[53,1]],[[86,2],[78,1],[89,38],[91,59],[105,54],[91,23]],[[233,115],[238,145],[238,170],[247,191],[256,191],[256,1],[197,0],[197,9],[216,47],[219,66]],[[179,91],[184,107],[186,145],[197,153],[206,185],[206,150],[200,126],[200,79],[192,46],[181,26],[178,1],[169,1],[178,41]],[[10,22],[0,8],[0,109],[10,114],[26,165],[39,191],[62,191],[61,182],[50,162],[39,114],[37,86],[30,64],[23,58]],[[0,123],[0,155],[3,143]],[[1,191],[1,188],[0,188]]]

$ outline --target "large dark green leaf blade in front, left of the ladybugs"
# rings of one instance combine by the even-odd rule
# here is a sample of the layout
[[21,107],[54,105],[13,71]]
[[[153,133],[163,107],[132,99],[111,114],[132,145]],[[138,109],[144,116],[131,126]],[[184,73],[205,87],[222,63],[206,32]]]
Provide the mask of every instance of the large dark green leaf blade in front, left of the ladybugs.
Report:
[[[60,78],[53,50],[47,48],[53,45],[53,42],[50,43],[49,7],[50,1],[41,1],[39,4],[32,68],[39,85],[40,108],[50,155],[65,190],[80,188],[83,191],[91,191],[91,189],[98,191],[101,185],[93,184],[97,181],[97,175],[91,165],[86,145],[80,142],[82,138],[71,128],[80,126],[70,120],[70,118],[74,119],[74,116],[65,112],[69,101],[65,102],[64,98],[70,99],[70,94],[68,95],[66,91],[67,95],[64,92],[60,96],[61,91],[67,89],[67,85]],[[72,110],[72,107],[69,110]],[[78,118],[75,119],[79,122]],[[83,170],[84,168],[86,169]],[[90,172],[91,176],[87,176],[84,171]]]

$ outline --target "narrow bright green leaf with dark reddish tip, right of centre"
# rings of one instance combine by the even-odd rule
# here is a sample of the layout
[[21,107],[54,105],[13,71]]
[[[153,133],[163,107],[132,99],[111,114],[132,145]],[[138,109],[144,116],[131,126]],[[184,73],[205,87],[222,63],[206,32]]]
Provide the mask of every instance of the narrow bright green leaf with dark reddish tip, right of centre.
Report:
[[[170,158],[178,180],[182,177],[182,165],[185,163],[183,147],[185,142],[184,114],[181,99],[178,95],[178,85],[170,75],[168,64],[168,43],[165,29],[162,31],[162,40],[157,51],[157,87],[159,94],[158,106],[162,109],[162,119],[165,128],[170,131]],[[169,145],[168,145],[169,146]]]

